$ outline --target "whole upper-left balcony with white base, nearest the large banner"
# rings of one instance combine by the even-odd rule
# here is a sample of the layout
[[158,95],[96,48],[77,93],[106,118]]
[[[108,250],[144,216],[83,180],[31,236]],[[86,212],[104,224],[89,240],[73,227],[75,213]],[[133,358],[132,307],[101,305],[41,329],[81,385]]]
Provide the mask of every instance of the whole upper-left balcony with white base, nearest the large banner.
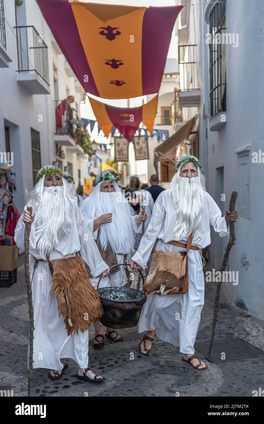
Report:
[[33,25],[16,26],[16,80],[31,94],[50,94],[48,47]]

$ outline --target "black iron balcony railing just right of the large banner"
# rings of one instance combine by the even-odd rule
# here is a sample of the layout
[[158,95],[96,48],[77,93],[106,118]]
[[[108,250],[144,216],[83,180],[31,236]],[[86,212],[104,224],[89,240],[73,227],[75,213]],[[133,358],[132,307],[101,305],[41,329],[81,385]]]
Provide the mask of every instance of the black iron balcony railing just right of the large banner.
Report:
[[199,84],[195,81],[195,49],[196,44],[178,46],[180,90],[198,90]]

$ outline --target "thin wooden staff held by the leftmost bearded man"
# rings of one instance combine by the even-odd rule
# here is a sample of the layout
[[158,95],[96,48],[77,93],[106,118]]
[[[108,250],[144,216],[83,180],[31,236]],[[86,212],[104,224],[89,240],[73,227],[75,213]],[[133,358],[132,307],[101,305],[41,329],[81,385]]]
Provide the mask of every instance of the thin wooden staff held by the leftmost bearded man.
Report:
[[[32,207],[27,207],[30,216],[32,214]],[[29,374],[28,374],[28,389],[27,396],[30,396],[30,383],[31,377],[33,377],[33,332],[34,332],[34,316],[33,316],[33,301],[32,301],[32,291],[30,286],[30,276],[29,276],[29,236],[30,236],[31,222],[25,223],[25,280],[27,285],[27,298],[28,298],[28,312],[29,312],[29,323],[30,323],[30,336],[29,336]]]

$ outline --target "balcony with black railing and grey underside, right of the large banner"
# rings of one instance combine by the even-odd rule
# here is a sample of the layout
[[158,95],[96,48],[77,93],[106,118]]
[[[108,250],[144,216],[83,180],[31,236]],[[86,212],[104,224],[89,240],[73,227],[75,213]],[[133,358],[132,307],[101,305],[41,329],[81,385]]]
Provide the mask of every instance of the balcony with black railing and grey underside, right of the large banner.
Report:
[[199,84],[195,81],[196,64],[195,48],[197,45],[179,45],[179,106],[198,107],[200,105],[201,91]]

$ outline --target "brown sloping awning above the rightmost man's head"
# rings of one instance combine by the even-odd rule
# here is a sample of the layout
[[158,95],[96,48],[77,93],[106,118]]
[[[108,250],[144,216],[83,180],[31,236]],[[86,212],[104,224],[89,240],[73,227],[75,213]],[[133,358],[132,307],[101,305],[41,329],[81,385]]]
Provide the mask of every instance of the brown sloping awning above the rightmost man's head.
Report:
[[[195,124],[196,118],[193,117],[184,126],[182,126],[175,134],[165,140],[162,144],[154,149],[154,162],[158,162],[162,157],[166,157],[167,153],[179,146],[181,142],[187,140]],[[165,156],[164,156],[165,155]],[[170,159],[170,158],[168,158]],[[175,158],[174,158],[175,159]],[[171,160],[171,159],[170,159]],[[175,162],[175,161],[172,161]],[[176,163],[176,162],[175,162]]]

